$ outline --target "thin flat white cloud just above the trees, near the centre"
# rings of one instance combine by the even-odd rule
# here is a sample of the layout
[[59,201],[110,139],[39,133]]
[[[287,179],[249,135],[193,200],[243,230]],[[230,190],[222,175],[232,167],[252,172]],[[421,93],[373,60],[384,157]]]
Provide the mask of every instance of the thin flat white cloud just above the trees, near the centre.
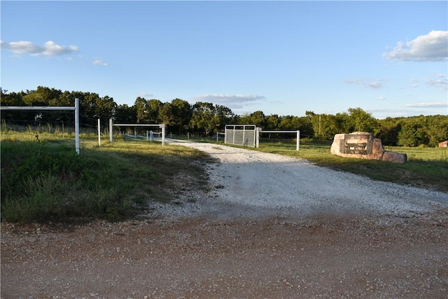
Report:
[[211,102],[228,106],[230,109],[241,109],[244,106],[255,104],[255,102],[264,101],[266,98],[262,95],[198,95],[193,97],[195,102]]

